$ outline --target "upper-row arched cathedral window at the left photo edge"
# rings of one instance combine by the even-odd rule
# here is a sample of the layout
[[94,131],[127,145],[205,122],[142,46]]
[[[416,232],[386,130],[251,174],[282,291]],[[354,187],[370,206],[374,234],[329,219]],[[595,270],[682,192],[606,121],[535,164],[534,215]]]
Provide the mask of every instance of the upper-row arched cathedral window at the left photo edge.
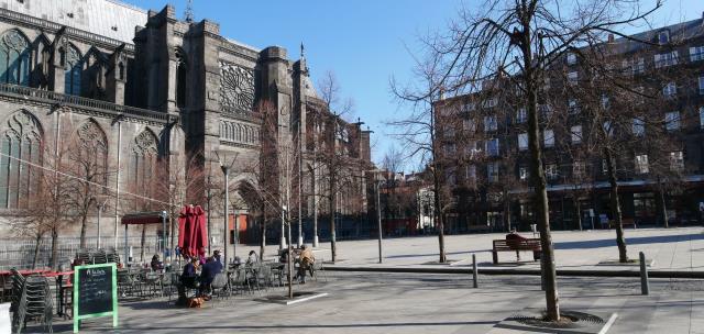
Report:
[[0,81],[13,85],[30,85],[31,48],[26,37],[11,30],[0,38]]

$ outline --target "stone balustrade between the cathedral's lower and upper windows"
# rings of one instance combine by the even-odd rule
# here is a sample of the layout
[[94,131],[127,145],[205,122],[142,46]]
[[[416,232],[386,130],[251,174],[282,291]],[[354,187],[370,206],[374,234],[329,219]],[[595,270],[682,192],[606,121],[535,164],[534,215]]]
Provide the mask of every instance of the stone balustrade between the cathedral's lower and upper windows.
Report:
[[163,112],[63,94],[54,91],[34,89],[24,86],[0,84],[0,94],[15,96],[19,98],[32,99],[47,103],[61,103],[69,107],[75,105],[78,108],[90,108],[99,111],[108,111],[116,115],[121,114],[143,119],[146,121],[168,123],[176,120],[175,116]]

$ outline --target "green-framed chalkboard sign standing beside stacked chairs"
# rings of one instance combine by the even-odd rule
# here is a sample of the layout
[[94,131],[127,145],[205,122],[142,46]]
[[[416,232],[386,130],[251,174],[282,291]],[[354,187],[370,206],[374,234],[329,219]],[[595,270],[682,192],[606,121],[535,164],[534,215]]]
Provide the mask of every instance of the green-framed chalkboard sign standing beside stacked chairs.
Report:
[[84,319],[112,316],[118,326],[118,276],[116,264],[74,268],[74,333]]

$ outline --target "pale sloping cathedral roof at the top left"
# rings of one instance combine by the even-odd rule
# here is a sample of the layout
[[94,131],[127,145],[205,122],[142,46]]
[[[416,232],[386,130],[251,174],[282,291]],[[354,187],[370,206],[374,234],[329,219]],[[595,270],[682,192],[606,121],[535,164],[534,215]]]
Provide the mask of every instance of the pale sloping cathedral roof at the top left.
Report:
[[147,20],[145,10],[117,0],[0,0],[0,7],[130,44]]

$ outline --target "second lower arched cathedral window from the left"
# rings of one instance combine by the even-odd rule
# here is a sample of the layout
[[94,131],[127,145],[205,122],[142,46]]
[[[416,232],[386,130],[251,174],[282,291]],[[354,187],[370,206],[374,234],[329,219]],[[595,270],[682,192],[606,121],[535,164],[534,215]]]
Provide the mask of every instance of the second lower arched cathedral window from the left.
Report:
[[[91,182],[108,182],[108,138],[95,121],[84,123],[74,137],[74,147],[69,154],[72,170],[75,175]],[[100,190],[105,191],[105,190]],[[98,191],[95,191],[96,193]]]

